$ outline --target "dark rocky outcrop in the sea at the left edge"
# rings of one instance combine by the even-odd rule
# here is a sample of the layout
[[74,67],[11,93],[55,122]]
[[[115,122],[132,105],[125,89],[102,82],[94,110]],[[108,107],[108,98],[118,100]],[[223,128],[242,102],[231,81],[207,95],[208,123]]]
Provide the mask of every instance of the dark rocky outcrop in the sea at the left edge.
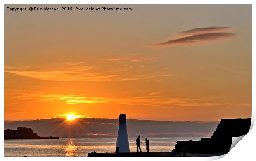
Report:
[[17,130],[5,130],[5,139],[59,139],[59,137],[40,137],[31,128],[18,127]]

